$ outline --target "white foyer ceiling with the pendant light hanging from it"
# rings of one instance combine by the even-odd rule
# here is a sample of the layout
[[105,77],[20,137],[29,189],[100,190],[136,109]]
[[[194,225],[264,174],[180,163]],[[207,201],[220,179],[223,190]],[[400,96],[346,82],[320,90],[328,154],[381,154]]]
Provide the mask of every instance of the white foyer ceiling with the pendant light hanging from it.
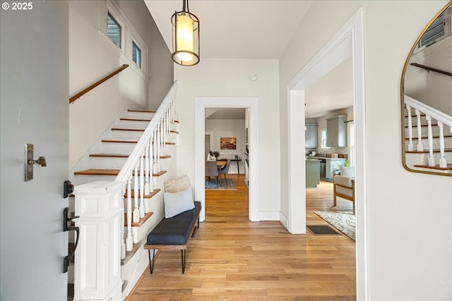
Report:
[[[279,59],[312,1],[191,0],[199,19],[201,58]],[[145,0],[172,49],[171,16],[182,0]]]

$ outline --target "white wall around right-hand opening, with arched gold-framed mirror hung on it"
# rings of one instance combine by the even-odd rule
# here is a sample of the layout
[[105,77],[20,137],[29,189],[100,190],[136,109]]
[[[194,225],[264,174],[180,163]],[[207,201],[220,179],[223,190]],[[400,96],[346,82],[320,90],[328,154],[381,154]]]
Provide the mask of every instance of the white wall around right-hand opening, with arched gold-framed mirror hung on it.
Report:
[[280,59],[280,199],[282,211],[287,213],[287,84],[352,14],[364,7],[364,231],[369,300],[452,298],[452,178],[405,171],[400,142],[403,64],[424,26],[446,4],[447,1],[314,1]]

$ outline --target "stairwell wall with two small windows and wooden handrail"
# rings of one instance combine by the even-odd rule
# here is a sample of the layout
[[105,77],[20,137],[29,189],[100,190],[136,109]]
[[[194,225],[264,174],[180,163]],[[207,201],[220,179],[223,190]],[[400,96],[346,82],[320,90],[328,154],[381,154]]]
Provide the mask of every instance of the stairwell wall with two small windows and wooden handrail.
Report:
[[[108,11],[121,23],[120,51],[102,33]],[[142,41],[143,70],[131,61],[131,41]],[[147,55],[144,48],[147,48]],[[173,82],[173,63],[143,1],[71,1],[69,4],[69,95],[124,63],[129,68],[73,102],[69,111],[69,168],[127,107],[156,109]],[[148,63],[146,64],[145,61]]]

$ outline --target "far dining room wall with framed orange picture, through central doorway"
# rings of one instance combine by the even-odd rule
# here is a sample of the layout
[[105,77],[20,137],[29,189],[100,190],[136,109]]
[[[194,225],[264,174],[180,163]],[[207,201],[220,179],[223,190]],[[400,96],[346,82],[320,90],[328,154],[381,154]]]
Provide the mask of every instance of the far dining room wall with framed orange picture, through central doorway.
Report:
[[[233,154],[244,159],[245,152],[245,120],[244,119],[206,119],[206,133],[212,133],[213,145],[210,150],[218,151],[220,159],[234,159]],[[237,149],[220,149],[221,137],[236,137]],[[239,164],[240,172],[244,173],[243,161]],[[230,164],[229,173],[237,173],[237,164]]]

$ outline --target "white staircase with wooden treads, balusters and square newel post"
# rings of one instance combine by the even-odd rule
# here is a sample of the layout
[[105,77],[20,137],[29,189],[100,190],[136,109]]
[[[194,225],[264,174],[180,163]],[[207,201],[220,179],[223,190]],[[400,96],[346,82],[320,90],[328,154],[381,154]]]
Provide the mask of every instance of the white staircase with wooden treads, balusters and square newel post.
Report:
[[[74,219],[76,226],[81,227],[81,242],[75,254],[75,278],[71,276],[71,273],[74,275],[72,264],[69,269],[69,283],[71,278],[74,282],[74,300],[117,300],[119,293],[105,289],[109,285],[118,286],[117,281],[116,284],[110,281],[107,285],[99,285],[98,279],[93,279],[93,285],[97,285],[94,291],[86,279],[93,273],[103,275],[100,278],[112,274],[114,277],[114,266],[119,264],[119,258],[121,300],[129,295],[147,269],[149,259],[143,244],[148,233],[165,215],[163,183],[165,178],[175,176],[176,171],[175,160],[172,160],[179,134],[176,111],[177,82],[174,82],[156,112],[127,109],[74,166],[71,181],[76,189],[70,204],[80,216]],[[119,187],[117,195],[121,200],[117,202],[117,196],[110,195],[105,202],[106,197],[99,196],[99,187],[105,187],[101,190],[106,193],[110,188]],[[90,211],[87,208],[92,204],[95,209]],[[104,216],[100,213],[102,210],[107,212]],[[115,214],[119,218],[115,219]],[[93,223],[97,225],[95,228]],[[112,245],[117,238],[118,243]],[[102,255],[107,264],[100,262],[99,265],[102,259],[96,253],[98,250],[104,250]],[[91,266],[93,271],[86,271]],[[99,269],[99,266],[105,268]]]

